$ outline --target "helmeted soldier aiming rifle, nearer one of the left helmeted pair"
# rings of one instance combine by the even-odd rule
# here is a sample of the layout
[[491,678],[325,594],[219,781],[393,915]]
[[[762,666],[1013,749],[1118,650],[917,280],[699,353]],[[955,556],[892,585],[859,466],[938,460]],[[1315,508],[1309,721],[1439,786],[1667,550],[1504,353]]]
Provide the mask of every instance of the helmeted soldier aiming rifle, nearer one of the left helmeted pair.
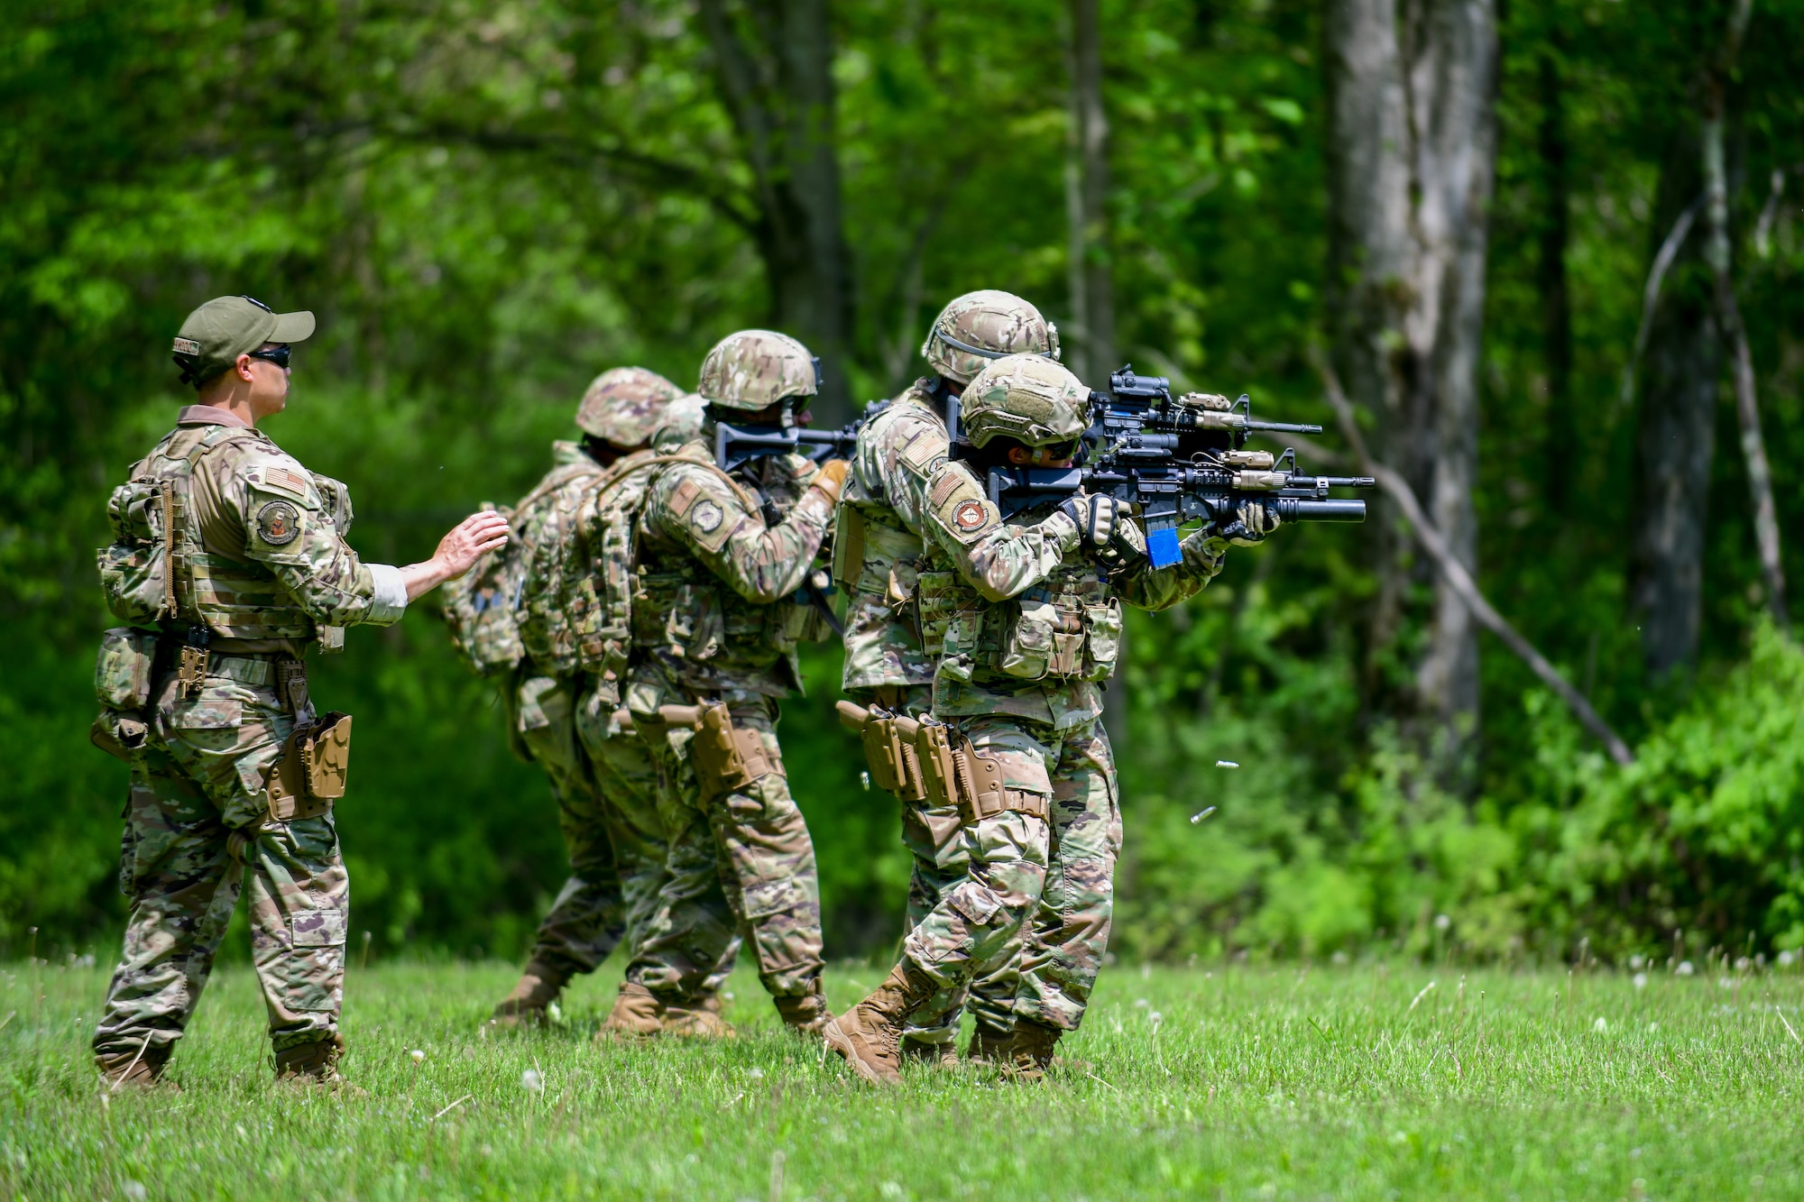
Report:
[[704,437],[660,451],[635,523],[633,668],[626,706],[658,769],[666,883],[626,967],[608,1032],[657,1031],[732,966],[743,933],[794,1031],[819,1031],[821,886],[814,843],[778,745],[778,698],[801,686],[797,639],[821,637],[797,605],[826,538],[844,460],[767,455],[714,464],[716,421],[781,430],[819,390],[794,337],[743,330],[702,363]]

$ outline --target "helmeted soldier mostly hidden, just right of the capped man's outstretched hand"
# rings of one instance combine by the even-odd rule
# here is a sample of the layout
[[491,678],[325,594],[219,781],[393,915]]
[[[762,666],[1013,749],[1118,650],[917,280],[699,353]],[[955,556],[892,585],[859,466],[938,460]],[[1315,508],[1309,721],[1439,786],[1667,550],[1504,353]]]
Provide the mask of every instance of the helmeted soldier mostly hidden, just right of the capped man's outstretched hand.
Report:
[[622,935],[633,946],[666,859],[644,742],[615,718],[619,684],[586,671],[584,603],[608,554],[608,514],[635,507],[644,491],[653,431],[700,431],[702,401],[655,372],[613,368],[588,386],[575,424],[583,442],[552,444],[552,469],[512,516],[525,570],[523,659],[505,693],[511,738],[550,778],[570,877],[539,922],[520,984],[494,1007],[507,1027],[543,1020],[570,978],[594,973]]

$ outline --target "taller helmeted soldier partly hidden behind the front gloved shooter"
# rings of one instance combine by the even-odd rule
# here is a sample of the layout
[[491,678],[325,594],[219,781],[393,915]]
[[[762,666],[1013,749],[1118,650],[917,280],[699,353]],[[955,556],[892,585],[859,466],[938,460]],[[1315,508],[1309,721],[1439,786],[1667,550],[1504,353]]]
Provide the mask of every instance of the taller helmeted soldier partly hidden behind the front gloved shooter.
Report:
[[[920,717],[933,702],[934,662],[915,628],[915,576],[924,550],[927,476],[949,453],[947,402],[992,359],[1010,354],[1059,357],[1059,332],[1041,312],[1010,292],[967,292],[940,310],[920,348],[933,375],[916,379],[895,401],[871,406],[859,428],[846,495],[839,504],[833,576],[846,590],[848,697],[888,713]],[[902,843],[913,857],[907,893],[909,926],[965,879],[958,810],[902,803]],[[989,1056],[1012,1025],[1019,940],[1008,940],[996,964],[971,984],[978,1016],[972,1056]],[[906,1054],[953,1063],[958,1058],[962,993],[940,993],[909,1016]]]

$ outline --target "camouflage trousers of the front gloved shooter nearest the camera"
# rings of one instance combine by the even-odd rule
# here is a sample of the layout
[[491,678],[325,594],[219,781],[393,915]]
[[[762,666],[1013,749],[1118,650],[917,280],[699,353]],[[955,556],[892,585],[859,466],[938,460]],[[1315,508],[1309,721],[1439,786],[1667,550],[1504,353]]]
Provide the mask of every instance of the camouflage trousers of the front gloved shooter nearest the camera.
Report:
[[1014,1018],[1075,1031],[1115,911],[1122,825],[1108,735],[1097,718],[1063,731],[1014,717],[958,726],[1001,762],[1007,787],[1050,796],[1050,821],[1005,812],[960,828],[965,872],[938,888],[902,955],[954,991],[998,973],[1005,982],[1019,938]]

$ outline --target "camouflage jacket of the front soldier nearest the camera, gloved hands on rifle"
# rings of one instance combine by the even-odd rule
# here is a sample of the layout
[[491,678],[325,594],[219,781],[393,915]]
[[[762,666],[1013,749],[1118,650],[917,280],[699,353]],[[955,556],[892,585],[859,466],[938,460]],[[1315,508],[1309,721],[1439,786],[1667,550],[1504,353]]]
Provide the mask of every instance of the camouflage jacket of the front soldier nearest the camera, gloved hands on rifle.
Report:
[[[1063,729],[1102,713],[1126,601],[1162,610],[1221,570],[1218,543],[1192,534],[1183,559],[1155,570],[1079,550],[1077,525],[1039,507],[1005,523],[962,462],[927,480],[927,550],[916,621],[938,657],[936,717],[1014,715]],[[1122,516],[1122,522],[1129,518]]]

